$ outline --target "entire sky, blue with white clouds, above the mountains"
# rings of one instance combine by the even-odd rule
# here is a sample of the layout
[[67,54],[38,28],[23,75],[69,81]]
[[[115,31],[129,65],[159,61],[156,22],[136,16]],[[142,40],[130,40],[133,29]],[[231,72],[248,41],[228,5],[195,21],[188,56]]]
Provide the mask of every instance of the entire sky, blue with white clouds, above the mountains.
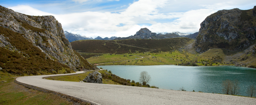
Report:
[[210,14],[252,9],[255,0],[0,0],[23,14],[53,15],[64,31],[86,37],[128,37],[152,32],[195,33]]

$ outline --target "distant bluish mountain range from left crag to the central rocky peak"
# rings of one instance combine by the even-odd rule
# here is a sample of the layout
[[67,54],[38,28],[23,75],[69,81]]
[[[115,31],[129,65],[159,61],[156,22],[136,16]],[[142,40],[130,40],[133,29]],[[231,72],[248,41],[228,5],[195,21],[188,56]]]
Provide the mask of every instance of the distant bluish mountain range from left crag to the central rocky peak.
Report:
[[96,38],[92,38],[92,37],[86,37],[86,36],[81,36],[79,34],[74,34],[74,33],[69,33],[67,31],[64,32],[66,38],[69,40],[69,42],[73,42],[73,41],[77,41],[77,40],[113,40],[117,37],[105,37],[105,38],[102,38],[100,36],[96,37]]

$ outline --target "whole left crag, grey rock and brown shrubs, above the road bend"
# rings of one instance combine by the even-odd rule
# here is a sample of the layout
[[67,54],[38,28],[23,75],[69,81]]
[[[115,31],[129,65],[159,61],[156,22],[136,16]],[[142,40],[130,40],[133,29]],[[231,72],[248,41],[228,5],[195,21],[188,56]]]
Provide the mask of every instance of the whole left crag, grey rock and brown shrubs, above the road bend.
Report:
[[98,69],[73,51],[54,16],[29,16],[0,6],[0,26],[4,72],[38,75]]

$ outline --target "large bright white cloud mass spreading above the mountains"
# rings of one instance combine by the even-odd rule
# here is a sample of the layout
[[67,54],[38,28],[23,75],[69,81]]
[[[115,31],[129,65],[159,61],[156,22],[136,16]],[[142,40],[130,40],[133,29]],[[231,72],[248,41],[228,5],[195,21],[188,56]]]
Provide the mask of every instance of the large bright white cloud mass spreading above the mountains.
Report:
[[[85,2],[86,0],[73,1]],[[241,2],[220,1],[212,3],[211,1],[202,5],[197,1],[139,0],[129,4],[127,9],[119,13],[87,11],[70,14],[51,14],[25,5],[9,8],[28,15],[53,15],[62,24],[63,30],[87,37],[95,38],[100,36],[104,38],[112,36],[128,37],[134,35],[140,28],[148,28],[152,32],[198,32],[200,23],[208,15],[217,10],[233,9],[236,5],[244,4]],[[182,5],[179,3],[182,3]],[[175,10],[184,9],[186,6],[189,7],[191,5],[197,9],[189,9],[182,12]]]

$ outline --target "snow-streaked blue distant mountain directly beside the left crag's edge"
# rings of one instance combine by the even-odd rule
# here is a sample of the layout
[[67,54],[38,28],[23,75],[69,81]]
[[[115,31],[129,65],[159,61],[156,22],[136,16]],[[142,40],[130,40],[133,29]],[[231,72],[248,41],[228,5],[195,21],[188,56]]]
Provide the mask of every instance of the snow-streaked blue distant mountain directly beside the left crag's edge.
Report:
[[74,34],[74,33],[69,33],[67,31],[64,32],[66,38],[69,40],[69,42],[72,41],[78,41],[78,40],[92,40],[93,38],[91,37],[86,37],[86,36],[81,36],[79,34]]

